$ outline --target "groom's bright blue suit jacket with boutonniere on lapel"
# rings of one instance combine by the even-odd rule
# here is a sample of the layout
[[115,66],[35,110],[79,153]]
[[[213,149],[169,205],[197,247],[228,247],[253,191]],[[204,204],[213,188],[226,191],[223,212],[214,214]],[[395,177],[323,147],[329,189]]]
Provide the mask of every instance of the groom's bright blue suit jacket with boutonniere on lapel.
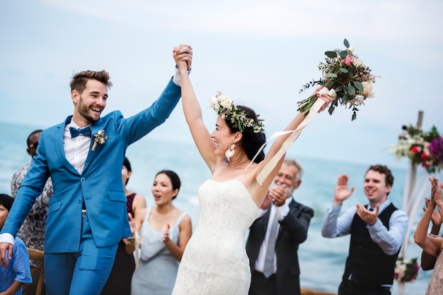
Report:
[[108,138],[91,148],[81,174],[64,155],[64,127],[69,116],[59,125],[40,133],[37,155],[18,189],[16,200],[2,229],[16,236],[28,216],[35,198],[46,180],[52,178],[54,195],[50,199],[45,231],[45,253],[79,251],[82,203],[88,210],[93,239],[98,247],[112,246],[131,236],[127,219],[126,196],[122,184],[122,164],[128,145],[162,124],[180,100],[180,87],[169,81],[160,97],[150,107],[130,118],[118,111],[103,116],[92,124],[92,134],[105,130]]

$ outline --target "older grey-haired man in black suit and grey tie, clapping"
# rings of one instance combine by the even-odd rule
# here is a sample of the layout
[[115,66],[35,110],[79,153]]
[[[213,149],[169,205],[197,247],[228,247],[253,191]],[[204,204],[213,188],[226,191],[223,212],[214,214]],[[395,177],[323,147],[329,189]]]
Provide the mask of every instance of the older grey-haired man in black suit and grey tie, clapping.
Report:
[[300,294],[297,250],[308,236],[313,217],[310,207],[292,198],[302,174],[303,169],[295,159],[284,159],[275,176],[275,186],[268,191],[251,226],[246,243],[252,273],[249,295]]

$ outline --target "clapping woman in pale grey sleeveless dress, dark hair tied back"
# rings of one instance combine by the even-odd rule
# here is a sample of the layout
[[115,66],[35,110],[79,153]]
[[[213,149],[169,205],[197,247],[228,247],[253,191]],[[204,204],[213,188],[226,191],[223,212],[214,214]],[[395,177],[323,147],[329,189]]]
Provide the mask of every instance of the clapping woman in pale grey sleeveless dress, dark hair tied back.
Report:
[[192,234],[190,216],[172,204],[179,189],[180,179],[175,172],[160,171],[151,188],[155,206],[140,210],[134,220],[136,236],[138,233],[142,243],[132,276],[132,295],[172,293],[178,265]]

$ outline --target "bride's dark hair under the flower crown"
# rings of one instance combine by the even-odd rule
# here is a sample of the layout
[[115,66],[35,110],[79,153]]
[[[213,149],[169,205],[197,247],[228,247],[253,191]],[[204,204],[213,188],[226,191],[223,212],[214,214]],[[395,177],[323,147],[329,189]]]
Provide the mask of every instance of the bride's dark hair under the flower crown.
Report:
[[[253,109],[250,109],[245,106],[238,105],[238,109],[245,112],[246,116],[248,118],[252,118],[256,123],[258,123],[258,117],[257,114],[255,114]],[[231,133],[236,133],[238,130],[238,127],[233,126],[231,123],[231,120],[225,119],[226,125],[229,127],[229,131]],[[248,159],[253,159],[255,154],[257,154],[258,150],[260,150],[261,146],[266,143],[266,135],[265,132],[254,132],[253,127],[244,127],[244,130],[242,132],[243,137],[241,138],[240,142],[237,143],[241,147],[243,147],[243,150],[245,150],[246,155],[248,156]],[[263,150],[260,151],[260,154],[258,154],[257,157],[255,157],[254,162],[260,163],[265,159],[265,152]]]

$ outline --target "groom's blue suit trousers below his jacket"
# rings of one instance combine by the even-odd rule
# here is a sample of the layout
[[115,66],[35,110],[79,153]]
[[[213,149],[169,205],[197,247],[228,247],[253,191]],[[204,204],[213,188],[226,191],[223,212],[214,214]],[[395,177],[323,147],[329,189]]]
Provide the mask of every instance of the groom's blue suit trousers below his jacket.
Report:
[[96,246],[88,222],[82,217],[78,253],[45,253],[47,295],[100,294],[113,268],[117,244]]

